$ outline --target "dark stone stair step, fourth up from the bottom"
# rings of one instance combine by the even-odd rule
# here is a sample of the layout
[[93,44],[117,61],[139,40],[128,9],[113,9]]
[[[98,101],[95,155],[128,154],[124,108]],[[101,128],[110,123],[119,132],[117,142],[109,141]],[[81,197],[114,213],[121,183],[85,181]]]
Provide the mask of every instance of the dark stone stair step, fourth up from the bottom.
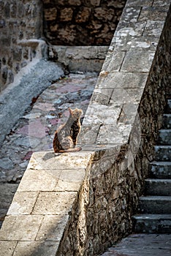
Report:
[[151,162],[151,178],[171,178],[171,162]]

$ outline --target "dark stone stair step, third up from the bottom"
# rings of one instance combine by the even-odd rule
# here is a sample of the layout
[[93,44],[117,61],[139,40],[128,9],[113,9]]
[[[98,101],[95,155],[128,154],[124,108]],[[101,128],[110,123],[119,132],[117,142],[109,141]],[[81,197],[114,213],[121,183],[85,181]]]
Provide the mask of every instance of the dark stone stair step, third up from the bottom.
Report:
[[145,195],[171,195],[171,179],[147,178]]

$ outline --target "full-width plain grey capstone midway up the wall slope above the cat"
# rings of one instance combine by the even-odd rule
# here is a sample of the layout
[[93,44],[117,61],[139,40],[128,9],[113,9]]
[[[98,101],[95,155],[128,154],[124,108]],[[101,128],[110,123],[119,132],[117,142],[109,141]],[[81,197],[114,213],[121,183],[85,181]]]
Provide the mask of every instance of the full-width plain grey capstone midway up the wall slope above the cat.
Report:
[[148,74],[140,72],[111,72],[99,80],[98,89],[144,88]]

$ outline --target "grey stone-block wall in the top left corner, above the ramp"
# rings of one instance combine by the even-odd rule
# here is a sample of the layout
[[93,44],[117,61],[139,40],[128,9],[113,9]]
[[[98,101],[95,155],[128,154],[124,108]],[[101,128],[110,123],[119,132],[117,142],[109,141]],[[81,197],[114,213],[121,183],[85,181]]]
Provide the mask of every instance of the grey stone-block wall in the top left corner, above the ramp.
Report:
[[0,91],[37,54],[37,42],[19,42],[41,37],[41,6],[40,0],[0,1]]

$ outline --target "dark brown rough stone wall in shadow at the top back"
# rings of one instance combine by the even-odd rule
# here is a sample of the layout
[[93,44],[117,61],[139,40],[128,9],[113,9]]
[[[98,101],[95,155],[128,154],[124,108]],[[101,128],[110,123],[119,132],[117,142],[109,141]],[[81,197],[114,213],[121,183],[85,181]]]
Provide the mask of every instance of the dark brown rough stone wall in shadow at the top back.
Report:
[[53,45],[110,45],[126,0],[43,0],[44,34]]

